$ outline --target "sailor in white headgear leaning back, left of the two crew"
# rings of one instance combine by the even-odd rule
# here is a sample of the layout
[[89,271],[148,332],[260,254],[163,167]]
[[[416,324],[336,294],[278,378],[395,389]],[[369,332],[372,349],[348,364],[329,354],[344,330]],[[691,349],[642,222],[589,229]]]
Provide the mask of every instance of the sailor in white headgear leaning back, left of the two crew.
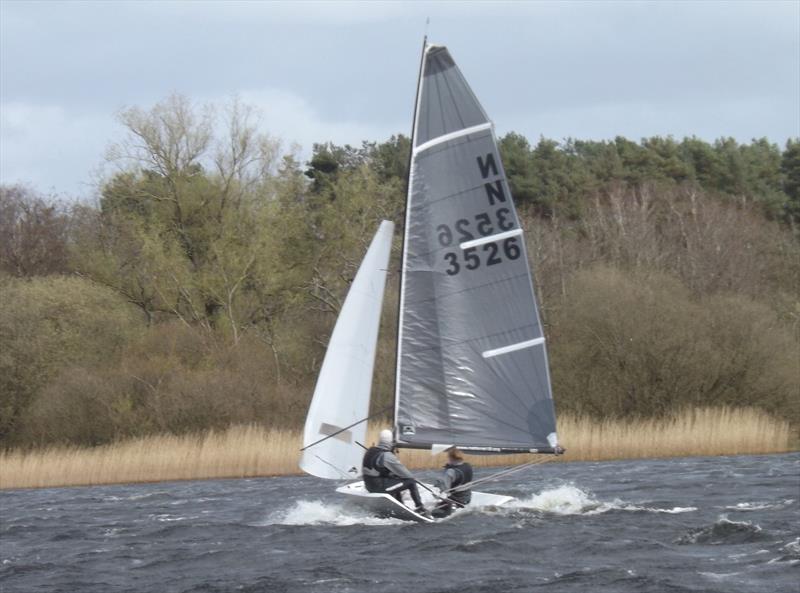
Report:
[[364,478],[364,486],[370,492],[386,492],[391,494],[400,502],[403,499],[400,493],[408,490],[411,498],[416,505],[415,512],[430,517],[430,513],[422,505],[417,490],[417,481],[414,475],[408,471],[405,465],[395,456],[394,435],[391,430],[381,431],[376,447],[370,447],[364,454],[363,467],[361,473]]

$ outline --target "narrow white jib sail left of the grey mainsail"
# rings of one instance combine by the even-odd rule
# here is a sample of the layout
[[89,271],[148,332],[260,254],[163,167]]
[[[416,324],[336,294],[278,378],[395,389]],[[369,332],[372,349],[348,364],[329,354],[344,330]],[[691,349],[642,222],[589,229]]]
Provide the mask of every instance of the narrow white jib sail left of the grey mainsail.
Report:
[[[378,342],[386,268],[394,224],[381,222],[347,293],[306,416],[303,447],[366,418]],[[325,439],[300,458],[300,469],[319,478],[353,479],[361,474],[367,423]]]

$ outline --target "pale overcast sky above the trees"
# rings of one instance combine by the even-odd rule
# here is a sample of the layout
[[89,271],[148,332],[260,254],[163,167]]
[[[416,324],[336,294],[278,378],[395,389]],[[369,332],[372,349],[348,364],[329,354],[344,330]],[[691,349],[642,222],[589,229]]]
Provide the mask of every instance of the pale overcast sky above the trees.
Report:
[[0,182],[89,197],[119,110],[175,92],[238,95],[301,158],[409,134],[426,17],[499,135],[800,136],[797,0],[0,0]]

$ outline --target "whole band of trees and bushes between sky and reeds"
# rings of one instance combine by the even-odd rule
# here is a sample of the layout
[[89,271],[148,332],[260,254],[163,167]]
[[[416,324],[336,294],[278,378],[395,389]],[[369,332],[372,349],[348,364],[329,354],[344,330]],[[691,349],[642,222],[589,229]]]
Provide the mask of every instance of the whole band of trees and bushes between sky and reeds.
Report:
[[[95,204],[0,189],[0,443],[300,426],[366,245],[402,224],[408,139],[320,144],[302,164],[238,103],[120,118]],[[800,140],[500,145],[560,410],[800,424]],[[396,288],[395,272],[376,406]]]

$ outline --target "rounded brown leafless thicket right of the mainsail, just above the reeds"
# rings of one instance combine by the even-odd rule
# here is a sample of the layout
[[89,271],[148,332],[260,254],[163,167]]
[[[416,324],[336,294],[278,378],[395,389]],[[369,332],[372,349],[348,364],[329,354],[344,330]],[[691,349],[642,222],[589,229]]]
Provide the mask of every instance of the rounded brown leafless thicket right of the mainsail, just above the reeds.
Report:
[[664,416],[688,406],[755,406],[800,422],[800,348],[766,306],[693,298],[662,273],[577,273],[553,312],[551,360],[562,411]]

